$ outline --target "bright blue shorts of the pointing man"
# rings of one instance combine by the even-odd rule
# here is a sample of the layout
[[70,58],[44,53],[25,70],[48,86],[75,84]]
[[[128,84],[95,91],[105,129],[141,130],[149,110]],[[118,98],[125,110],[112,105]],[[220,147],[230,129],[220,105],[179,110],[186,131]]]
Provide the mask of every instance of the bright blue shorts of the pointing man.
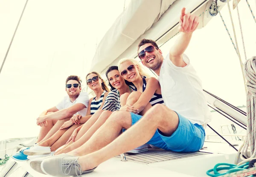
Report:
[[[171,136],[164,136],[160,130],[154,133],[154,136],[147,144],[163,148],[167,151],[176,152],[195,152],[199,151],[204,145],[205,132],[202,125],[192,124],[188,119],[178,114],[179,125],[177,130]],[[138,122],[142,116],[131,113],[131,125]]]

